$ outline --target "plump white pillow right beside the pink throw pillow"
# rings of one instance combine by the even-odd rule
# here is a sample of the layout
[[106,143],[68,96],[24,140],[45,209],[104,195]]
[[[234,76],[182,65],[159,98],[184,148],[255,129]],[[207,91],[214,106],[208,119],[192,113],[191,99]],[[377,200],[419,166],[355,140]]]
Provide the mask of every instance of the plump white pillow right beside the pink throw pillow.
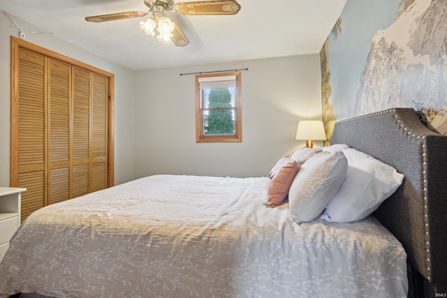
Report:
[[323,151],[303,163],[288,191],[293,221],[305,223],[318,217],[342,185],[347,170],[342,151]]

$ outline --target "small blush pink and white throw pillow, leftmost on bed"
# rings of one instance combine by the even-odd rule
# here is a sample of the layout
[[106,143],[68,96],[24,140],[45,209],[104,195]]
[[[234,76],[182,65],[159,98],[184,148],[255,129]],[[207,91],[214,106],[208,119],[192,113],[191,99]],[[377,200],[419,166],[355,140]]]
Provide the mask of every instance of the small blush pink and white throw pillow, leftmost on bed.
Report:
[[298,163],[288,156],[281,158],[268,174],[268,207],[277,207],[288,195],[288,188],[298,173]]

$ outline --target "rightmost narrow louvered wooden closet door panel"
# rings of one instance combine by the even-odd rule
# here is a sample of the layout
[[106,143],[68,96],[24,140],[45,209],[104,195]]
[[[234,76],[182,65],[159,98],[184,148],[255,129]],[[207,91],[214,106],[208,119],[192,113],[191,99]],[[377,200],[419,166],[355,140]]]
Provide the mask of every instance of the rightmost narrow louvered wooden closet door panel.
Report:
[[107,80],[93,75],[91,191],[107,187]]

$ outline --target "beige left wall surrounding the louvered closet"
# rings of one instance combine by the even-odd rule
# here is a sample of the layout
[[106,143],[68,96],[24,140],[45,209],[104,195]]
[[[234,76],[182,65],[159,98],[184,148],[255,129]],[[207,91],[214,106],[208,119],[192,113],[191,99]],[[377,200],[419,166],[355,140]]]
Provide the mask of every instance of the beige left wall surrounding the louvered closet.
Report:
[[[24,31],[42,29],[13,17]],[[10,36],[18,30],[0,12],[0,186],[9,186],[10,172]],[[115,184],[133,179],[133,71],[60,38],[26,32],[26,40],[115,74]]]

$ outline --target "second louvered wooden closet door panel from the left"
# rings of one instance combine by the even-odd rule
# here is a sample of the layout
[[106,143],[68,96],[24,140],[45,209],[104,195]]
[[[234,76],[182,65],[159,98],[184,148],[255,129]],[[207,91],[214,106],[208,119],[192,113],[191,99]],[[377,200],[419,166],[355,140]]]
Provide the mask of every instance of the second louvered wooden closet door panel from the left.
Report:
[[48,204],[70,199],[70,82],[71,68],[50,60],[48,63],[48,128],[50,192]]

